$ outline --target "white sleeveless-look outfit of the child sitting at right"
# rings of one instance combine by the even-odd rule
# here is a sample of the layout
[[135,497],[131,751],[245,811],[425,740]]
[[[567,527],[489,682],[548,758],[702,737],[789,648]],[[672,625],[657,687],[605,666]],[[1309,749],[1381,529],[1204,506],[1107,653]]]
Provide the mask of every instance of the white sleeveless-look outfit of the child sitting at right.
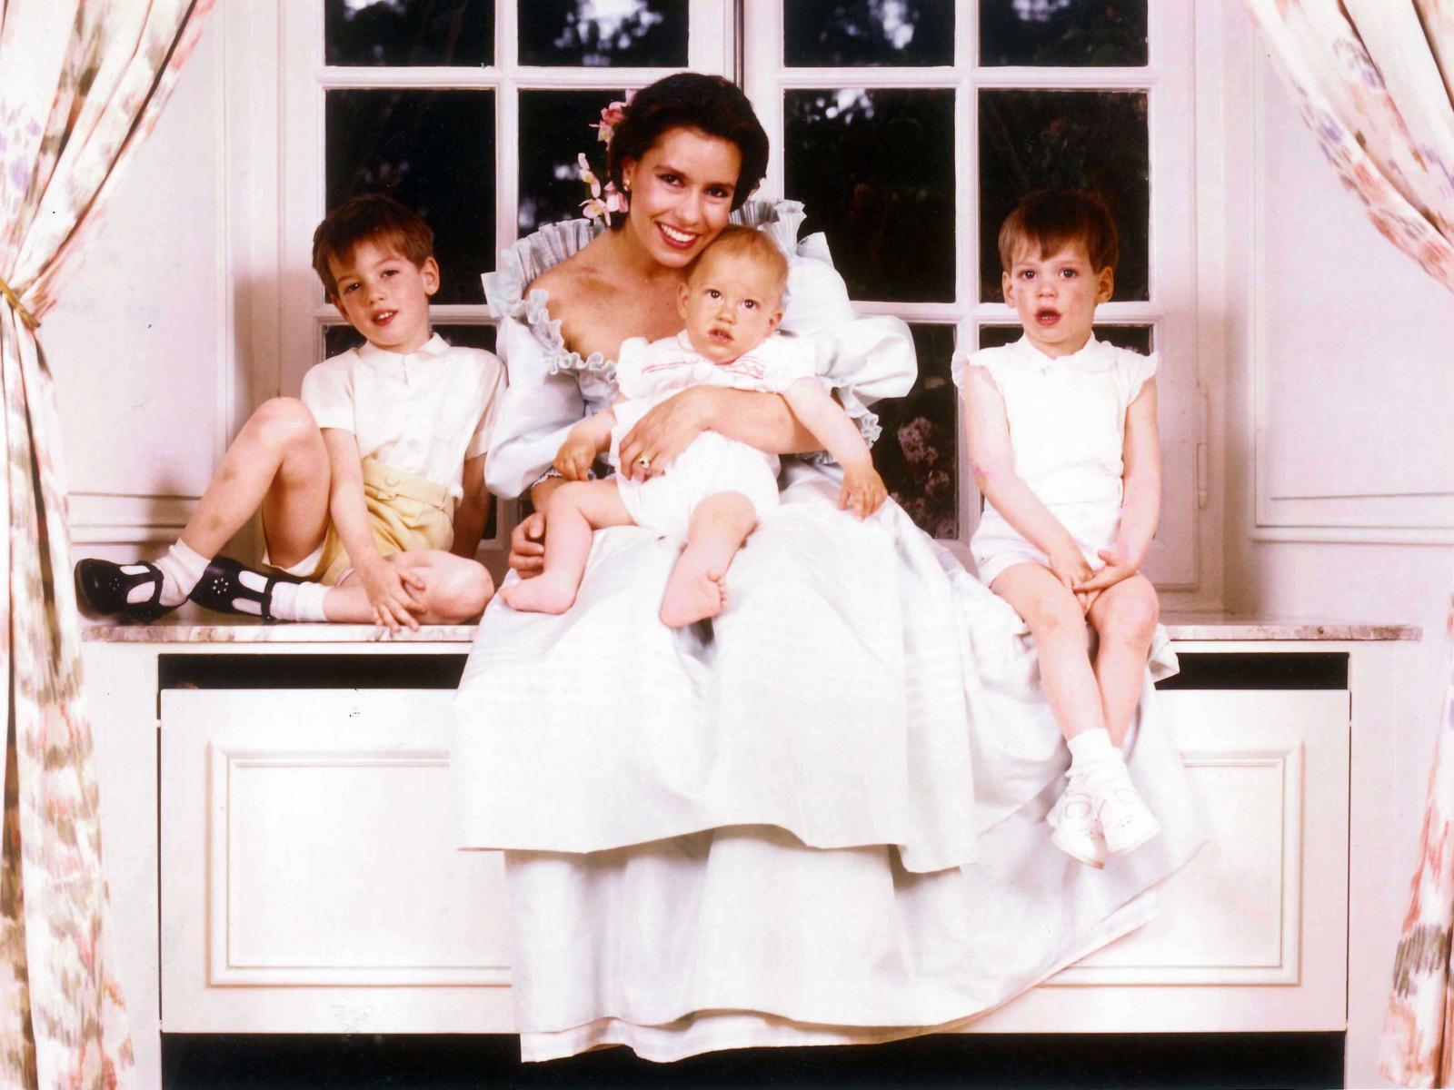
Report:
[[[1070,530],[1086,562],[1105,567],[1096,554],[1115,544],[1121,525],[1125,410],[1156,374],[1157,356],[1090,337],[1079,352],[1051,358],[1021,337],[957,359],[951,374],[961,389],[967,366],[984,368],[1005,398],[1015,474]],[[970,551],[986,584],[1013,564],[1050,567],[989,500]]]

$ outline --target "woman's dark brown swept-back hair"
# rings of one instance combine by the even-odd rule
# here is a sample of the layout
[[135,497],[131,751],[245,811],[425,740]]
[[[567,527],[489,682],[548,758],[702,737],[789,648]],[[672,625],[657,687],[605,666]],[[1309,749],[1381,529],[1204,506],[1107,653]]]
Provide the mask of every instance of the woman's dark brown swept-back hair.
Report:
[[[736,212],[768,173],[768,134],[762,131],[752,103],[742,90],[721,76],[683,71],[643,87],[625,108],[606,150],[606,176],[624,189],[622,166],[640,160],[667,129],[701,129],[737,145],[742,166],[731,206]],[[612,227],[625,222],[616,217]]]

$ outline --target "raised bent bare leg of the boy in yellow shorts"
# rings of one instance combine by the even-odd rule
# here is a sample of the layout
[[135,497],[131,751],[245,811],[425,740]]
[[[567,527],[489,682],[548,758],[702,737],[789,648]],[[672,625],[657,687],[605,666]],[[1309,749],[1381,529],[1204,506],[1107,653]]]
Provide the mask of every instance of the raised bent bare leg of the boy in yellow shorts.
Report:
[[323,541],[332,469],[323,435],[294,397],[259,405],[227,448],[182,530],[182,544],[215,557],[262,510],[269,560],[297,564]]

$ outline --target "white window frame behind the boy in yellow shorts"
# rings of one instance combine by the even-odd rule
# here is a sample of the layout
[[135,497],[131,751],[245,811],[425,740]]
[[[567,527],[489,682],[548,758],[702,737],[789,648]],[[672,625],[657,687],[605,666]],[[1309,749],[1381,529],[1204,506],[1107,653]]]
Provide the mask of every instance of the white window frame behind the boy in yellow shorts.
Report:
[[[252,1],[252,0],[249,0]],[[311,267],[313,230],[326,212],[324,96],[330,90],[491,90],[494,92],[494,238],[503,250],[518,238],[519,93],[526,90],[589,90],[644,87],[678,68],[539,67],[519,62],[516,4],[494,0],[497,64],[487,67],[334,67],[324,64],[321,0],[278,0],[279,140],[278,140],[278,389],[295,394],[302,376],[321,359],[323,331],[339,315],[318,301]],[[689,0],[688,65],[731,78],[737,57],[737,12],[731,0]],[[582,150],[589,145],[583,129]],[[585,186],[582,186],[585,196]],[[493,262],[491,262],[493,266]],[[480,269],[480,273],[490,269]],[[438,304],[430,321],[442,326],[494,324],[489,307]],[[516,503],[496,510],[496,532],[481,542],[481,557],[500,561],[519,517]],[[491,562],[491,567],[496,567]]]

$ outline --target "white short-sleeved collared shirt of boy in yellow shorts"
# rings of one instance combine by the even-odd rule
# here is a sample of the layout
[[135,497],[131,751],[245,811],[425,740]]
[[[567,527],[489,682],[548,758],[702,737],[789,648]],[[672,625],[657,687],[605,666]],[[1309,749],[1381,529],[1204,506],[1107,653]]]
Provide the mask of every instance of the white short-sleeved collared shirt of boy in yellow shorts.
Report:
[[464,496],[464,462],[483,455],[505,368],[481,349],[451,347],[438,333],[417,352],[364,344],[313,366],[302,403],[318,427],[352,432],[372,458]]

